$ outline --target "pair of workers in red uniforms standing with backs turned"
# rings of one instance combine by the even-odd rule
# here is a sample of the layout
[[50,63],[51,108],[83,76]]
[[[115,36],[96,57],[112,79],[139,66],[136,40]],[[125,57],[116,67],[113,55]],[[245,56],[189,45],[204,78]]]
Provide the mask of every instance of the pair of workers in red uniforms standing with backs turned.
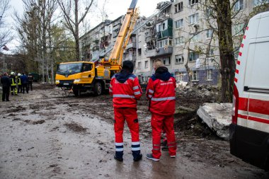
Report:
[[[173,129],[173,115],[176,109],[176,79],[164,67],[160,59],[154,61],[155,73],[149,79],[146,96],[149,100],[152,128],[152,150],[147,158],[159,161],[161,158],[161,133],[166,133],[167,149],[171,158],[176,157],[176,137]],[[123,128],[125,120],[132,137],[132,156],[134,161],[142,159],[139,142],[139,121],[137,118],[137,100],[142,96],[142,89],[137,76],[132,74],[134,65],[124,61],[120,73],[115,74],[110,82],[109,92],[113,96],[115,116],[115,156],[123,161]]]

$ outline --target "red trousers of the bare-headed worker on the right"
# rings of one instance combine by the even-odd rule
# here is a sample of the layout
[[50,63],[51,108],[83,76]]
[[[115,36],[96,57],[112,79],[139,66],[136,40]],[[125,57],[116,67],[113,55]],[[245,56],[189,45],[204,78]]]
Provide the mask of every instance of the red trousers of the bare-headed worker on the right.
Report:
[[161,130],[164,127],[167,137],[167,145],[170,156],[176,156],[176,137],[173,129],[173,115],[164,116],[151,113],[152,127],[152,155],[154,158],[161,157]]

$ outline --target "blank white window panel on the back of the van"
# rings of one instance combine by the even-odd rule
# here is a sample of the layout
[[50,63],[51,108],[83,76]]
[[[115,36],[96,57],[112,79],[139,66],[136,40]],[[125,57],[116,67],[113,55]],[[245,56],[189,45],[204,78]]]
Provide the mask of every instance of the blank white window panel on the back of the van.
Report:
[[244,86],[269,89],[269,41],[252,43],[248,49]]

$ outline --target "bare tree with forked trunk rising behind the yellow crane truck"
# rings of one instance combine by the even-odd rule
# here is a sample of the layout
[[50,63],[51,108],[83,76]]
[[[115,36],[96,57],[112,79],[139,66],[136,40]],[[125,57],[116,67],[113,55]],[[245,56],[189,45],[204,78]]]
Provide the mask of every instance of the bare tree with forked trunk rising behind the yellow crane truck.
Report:
[[88,1],[86,4],[85,11],[79,14],[79,11],[82,11],[79,8],[79,0],[57,0],[59,7],[62,10],[64,16],[64,25],[72,35],[74,36],[74,40],[76,42],[76,60],[80,59],[79,53],[79,25],[84,21],[86,15],[93,4],[93,0]]

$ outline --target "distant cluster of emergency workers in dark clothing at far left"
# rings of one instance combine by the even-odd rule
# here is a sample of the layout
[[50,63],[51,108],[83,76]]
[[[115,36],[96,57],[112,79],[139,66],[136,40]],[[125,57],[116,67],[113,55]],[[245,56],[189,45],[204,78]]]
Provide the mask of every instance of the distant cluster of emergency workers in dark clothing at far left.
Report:
[[18,93],[28,93],[29,88],[33,91],[33,76],[28,74],[15,74],[11,72],[11,75],[8,76],[8,73],[5,72],[1,76],[1,84],[3,88],[2,101],[9,101],[9,93],[12,96],[18,96]]

